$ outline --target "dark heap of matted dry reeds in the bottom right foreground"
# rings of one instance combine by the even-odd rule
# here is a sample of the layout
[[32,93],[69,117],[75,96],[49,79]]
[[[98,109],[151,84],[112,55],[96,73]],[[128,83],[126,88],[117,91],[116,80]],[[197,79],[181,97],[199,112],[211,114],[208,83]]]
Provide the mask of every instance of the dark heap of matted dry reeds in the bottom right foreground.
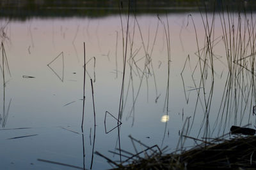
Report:
[[255,169],[255,150],[256,136],[213,139],[179,154],[154,153],[116,169]]

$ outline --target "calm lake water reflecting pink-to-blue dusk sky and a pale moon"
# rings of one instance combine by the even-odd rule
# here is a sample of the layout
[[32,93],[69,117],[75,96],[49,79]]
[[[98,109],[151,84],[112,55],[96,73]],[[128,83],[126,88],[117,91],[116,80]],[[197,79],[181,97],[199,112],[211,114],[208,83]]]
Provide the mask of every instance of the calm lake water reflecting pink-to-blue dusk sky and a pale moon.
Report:
[[[2,19],[6,55],[2,46],[1,167],[72,168],[62,163],[90,169],[93,152],[118,161],[119,147],[133,154],[147,148],[136,140],[162,149],[168,146],[166,153],[170,153],[177,149],[182,134],[215,138],[231,125],[253,128],[255,14],[246,16],[246,24],[244,15],[240,22],[238,14],[232,13],[229,24],[227,13],[223,15],[224,19],[222,14],[214,15],[211,31],[212,14],[207,15],[208,22],[203,14],[203,22],[200,13],[192,13],[196,32],[189,13],[129,18],[124,110],[118,128],[115,118],[122,91],[127,15],[122,15],[122,22],[119,15]],[[204,25],[211,48],[207,48]],[[82,132],[83,43],[88,63]],[[195,144],[186,139],[184,146]],[[109,168],[107,160],[94,154],[92,169]]]

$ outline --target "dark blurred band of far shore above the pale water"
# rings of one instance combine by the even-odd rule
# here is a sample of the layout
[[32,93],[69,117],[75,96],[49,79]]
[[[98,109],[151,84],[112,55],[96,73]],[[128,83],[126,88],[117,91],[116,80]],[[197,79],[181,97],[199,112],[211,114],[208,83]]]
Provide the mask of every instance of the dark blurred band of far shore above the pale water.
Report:
[[[119,2],[119,3],[118,3]],[[121,5],[122,4],[122,5]],[[172,13],[226,9],[256,9],[256,1],[248,0],[130,0],[131,9],[136,13]],[[104,17],[127,11],[128,0],[1,0],[0,17],[25,20],[31,17]]]

